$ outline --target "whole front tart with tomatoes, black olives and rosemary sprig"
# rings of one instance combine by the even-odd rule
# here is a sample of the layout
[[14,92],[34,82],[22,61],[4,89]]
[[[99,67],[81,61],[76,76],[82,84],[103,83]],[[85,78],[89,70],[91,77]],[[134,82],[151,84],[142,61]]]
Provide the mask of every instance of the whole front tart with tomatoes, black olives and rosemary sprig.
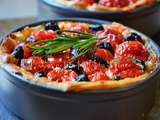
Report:
[[143,80],[157,67],[149,39],[118,23],[50,21],[12,32],[1,67],[62,91],[111,89]]

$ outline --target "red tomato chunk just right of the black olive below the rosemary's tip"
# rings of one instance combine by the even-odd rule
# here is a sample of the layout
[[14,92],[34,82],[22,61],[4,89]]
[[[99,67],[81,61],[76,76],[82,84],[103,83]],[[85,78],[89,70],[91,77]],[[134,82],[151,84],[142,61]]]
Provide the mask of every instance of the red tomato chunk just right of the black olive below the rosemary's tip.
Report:
[[81,66],[87,75],[91,75],[97,71],[105,70],[101,64],[91,60],[82,62]]

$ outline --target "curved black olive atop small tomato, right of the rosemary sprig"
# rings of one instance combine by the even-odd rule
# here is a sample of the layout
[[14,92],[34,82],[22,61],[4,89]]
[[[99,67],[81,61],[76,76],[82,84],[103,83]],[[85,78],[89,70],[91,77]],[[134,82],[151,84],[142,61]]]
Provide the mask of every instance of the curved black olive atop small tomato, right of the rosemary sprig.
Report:
[[112,45],[109,42],[101,42],[99,44],[96,45],[96,47],[98,48],[104,48],[106,50],[109,50],[112,54],[114,54],[114,49],[112,47]]

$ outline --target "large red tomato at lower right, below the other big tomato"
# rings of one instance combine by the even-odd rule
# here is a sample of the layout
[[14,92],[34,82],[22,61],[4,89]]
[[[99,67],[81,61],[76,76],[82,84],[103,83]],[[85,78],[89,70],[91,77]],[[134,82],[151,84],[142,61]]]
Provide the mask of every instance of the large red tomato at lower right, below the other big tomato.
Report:
[[113,63],[110,65],[108,71],[121,78],[137,77],[144,73],[144,70],[131,60],[123,60]]

